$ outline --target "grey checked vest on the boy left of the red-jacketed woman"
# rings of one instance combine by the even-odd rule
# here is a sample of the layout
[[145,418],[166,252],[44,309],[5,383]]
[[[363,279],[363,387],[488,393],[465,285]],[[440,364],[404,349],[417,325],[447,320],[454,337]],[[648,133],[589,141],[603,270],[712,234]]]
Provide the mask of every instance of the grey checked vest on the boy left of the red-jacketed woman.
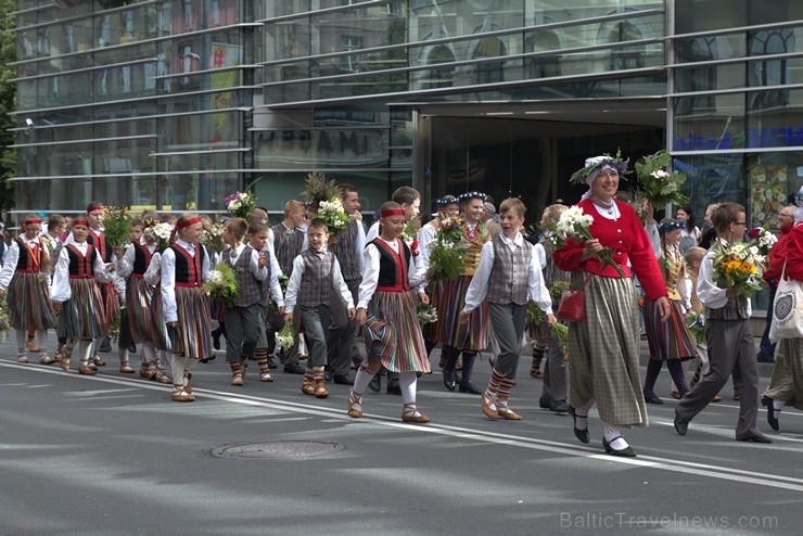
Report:
[[533,244],[522,240],[521,247],[517,247],[513,252],[502,242],[501,235],[494,237],[492,242],[494,244],[494,268],[488,279],[488,293],[485,299],[493,304],[525,305]]

